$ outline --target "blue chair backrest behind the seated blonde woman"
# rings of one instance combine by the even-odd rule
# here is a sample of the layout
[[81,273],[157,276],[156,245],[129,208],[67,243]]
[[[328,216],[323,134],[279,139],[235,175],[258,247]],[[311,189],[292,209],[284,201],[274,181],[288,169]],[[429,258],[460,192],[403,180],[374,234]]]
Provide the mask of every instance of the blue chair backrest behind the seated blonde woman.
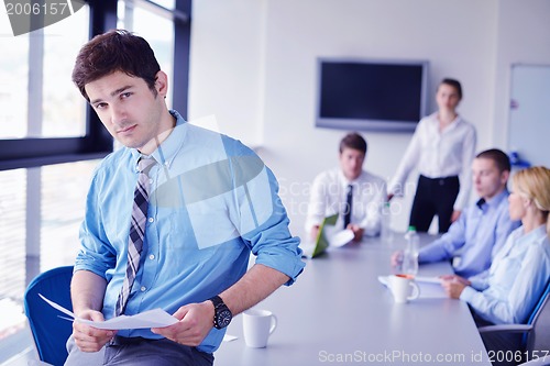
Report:
[[529,318],[532,331],[527,336],[528,351],[550,350],[550,281]]

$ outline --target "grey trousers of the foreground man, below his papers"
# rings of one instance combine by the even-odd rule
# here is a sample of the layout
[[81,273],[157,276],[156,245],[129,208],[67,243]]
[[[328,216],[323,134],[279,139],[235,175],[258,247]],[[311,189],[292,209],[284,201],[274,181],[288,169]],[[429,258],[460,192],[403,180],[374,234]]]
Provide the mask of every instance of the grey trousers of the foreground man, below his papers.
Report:
[[67,342],[66,366],[211,366],[213,355],[168,340],[132,340],[116,337],[96,353],[81,352],[73,336]]

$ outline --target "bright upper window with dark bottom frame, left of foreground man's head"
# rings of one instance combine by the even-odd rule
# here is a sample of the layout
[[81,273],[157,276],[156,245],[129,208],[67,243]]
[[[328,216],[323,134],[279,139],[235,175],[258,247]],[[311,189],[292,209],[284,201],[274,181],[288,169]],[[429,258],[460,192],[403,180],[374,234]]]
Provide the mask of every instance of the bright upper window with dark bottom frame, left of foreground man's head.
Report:
[[112,149],[97,119],[87,121],[86,103],[70,80],[75,56],[89,37],[90,13],[85,5],[20,36],[2,20],[0,120],[7,123],[0,124],[0,170],[95,158]]

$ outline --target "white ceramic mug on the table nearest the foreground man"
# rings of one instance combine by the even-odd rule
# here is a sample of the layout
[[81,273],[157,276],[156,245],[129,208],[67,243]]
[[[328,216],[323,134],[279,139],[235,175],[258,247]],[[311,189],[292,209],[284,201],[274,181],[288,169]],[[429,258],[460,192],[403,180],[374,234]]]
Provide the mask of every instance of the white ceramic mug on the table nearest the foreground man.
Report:
[[277,328],[277,317],[268,310],[250,309],[243,312],[244,343],[249,347],[263,348]]

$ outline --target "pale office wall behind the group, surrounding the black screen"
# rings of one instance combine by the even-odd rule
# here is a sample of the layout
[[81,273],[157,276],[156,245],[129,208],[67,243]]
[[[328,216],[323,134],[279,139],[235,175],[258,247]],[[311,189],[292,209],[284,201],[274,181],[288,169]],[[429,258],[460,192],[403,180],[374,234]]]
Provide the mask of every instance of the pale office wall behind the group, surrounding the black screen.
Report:
[[[222,132],[260,146],[280,180],[292,228],[300,233],[309,184],[338,164],[344,133],[314,126],[316,57],[429,59],[432,91],[446,76],[463,82],[459,111],[476,125],[479,148],[505,148],[508,65],[520,56],[534,59],[544,42],[549,48],[548,3],[197,0],[189,115],[216,114]],[[410,134],[363,134],[369,142],[365,168],[389,179]],[[414,184],[415,177],[409,180]],[[409,193],[393,203],[398,211],[394,229],[405,230],[410,201]]]

